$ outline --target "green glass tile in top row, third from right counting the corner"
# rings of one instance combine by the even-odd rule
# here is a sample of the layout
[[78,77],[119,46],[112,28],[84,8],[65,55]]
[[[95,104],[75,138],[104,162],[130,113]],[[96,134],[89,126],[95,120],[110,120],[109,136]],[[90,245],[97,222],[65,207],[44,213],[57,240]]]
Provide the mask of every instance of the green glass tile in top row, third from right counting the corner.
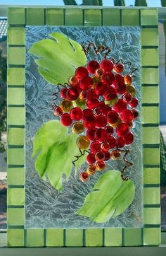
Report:
[[120,9],[103,8],[103,25],[120,25]]

